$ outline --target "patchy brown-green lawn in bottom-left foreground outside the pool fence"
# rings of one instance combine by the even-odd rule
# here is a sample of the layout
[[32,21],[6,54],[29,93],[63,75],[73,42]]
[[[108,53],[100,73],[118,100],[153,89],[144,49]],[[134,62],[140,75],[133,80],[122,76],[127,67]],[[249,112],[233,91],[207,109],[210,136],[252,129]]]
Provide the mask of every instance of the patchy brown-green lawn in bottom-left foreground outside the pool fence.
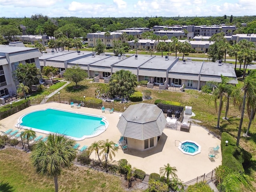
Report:
[[[54,192],[53,179],[35,173],[28,153],[8,148],[0,151],[0,157],[1,191]],[[125,191],[122,178],[80,166],[65,169],[58,177],[58,184],[60,192]]]

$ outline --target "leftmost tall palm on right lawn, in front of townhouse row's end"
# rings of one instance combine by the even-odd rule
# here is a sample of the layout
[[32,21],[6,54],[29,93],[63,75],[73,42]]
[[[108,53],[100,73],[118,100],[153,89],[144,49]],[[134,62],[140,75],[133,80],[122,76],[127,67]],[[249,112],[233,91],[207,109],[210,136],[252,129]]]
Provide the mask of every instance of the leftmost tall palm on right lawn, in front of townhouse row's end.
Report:
[[220,115],[221,115],[222,105],[223,105],[223,98],[224,98],[223,96],[225,96],[229,88],[228,82],[230,81],[228,77],[225,77],[222,74],[220,76],[221,76],[221,82],[216,85],[216,88],[212,92],[212,97],[214,98],[214,105],[216,110],[217,110],[217,100],[218,98],[220,98],[220,104],[219,104],[219,110],[218,110],[218,122],[217,122],[216,128],[220,128]]

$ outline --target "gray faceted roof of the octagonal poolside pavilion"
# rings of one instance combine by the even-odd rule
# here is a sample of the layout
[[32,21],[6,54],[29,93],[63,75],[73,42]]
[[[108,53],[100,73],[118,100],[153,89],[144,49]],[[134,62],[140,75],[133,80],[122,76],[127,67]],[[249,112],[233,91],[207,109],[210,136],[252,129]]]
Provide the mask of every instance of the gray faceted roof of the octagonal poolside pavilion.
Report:
[[129,106],[117,124],[122,136],[146,140],[162,134],[166,118],[160,108],[140,103]]

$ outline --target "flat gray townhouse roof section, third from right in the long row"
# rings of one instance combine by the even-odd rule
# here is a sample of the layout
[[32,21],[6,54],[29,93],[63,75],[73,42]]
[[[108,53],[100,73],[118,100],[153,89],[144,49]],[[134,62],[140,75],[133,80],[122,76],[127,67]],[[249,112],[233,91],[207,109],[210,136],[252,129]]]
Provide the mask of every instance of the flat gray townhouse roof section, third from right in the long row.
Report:
[[[140,55],[138,56],[138,58],[139,57]],[[175,61],[176,58],[170,58],[169,60],[165,60],[165,56],[154,56],[154,58],[140,66],[140,68],[167,70]]]

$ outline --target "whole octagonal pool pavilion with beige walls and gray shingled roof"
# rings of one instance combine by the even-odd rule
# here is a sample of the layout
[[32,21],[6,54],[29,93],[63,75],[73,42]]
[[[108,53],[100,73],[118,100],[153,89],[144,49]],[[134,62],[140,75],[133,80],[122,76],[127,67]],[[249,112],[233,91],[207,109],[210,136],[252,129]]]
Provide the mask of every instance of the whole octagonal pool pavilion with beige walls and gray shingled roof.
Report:
[[128,149],[144,151],[156,147],[165,125],[166,118],[160,108],[140,103],[122,113],[117,128],[125,137]]

